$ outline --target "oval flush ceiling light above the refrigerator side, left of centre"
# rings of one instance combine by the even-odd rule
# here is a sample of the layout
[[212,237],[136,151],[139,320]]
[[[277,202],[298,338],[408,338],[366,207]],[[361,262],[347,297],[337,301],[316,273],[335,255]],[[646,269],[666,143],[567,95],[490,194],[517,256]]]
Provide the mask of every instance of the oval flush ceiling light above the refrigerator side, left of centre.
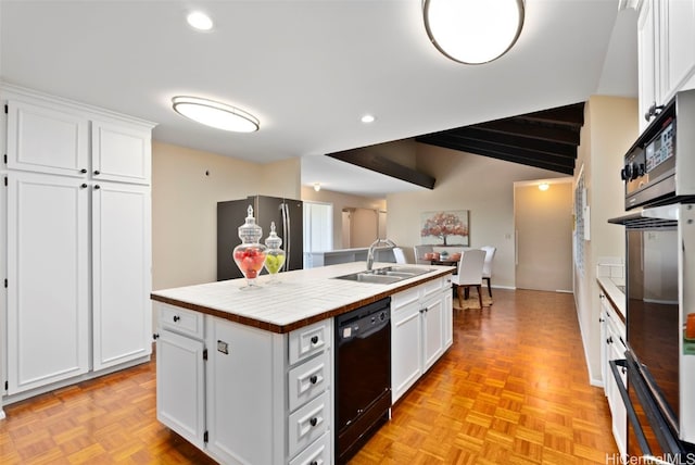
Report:
[[214,100],[179,96],[172,99],[174,111],[206,126],[235,133],[253,133],[261,123],[250,113]]

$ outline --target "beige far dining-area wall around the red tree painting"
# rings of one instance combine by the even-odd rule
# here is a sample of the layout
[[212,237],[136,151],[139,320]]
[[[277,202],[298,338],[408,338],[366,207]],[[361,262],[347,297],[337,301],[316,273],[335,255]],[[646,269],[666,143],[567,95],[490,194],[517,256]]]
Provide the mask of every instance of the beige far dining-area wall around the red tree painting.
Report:
[[437,178],[433,190],[387,196],[388,236],[409,262],[420,243],[420,213],[469,210],[470,246],[497,248],[492,285],[515,287],[514,183],[563,177],[559,173],[469,153],[417,144],[417,168]]

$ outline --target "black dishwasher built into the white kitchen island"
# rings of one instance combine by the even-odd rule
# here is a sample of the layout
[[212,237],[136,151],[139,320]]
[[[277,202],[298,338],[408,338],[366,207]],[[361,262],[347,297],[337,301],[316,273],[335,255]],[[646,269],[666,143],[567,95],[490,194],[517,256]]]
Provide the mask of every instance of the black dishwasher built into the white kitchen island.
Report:
[[344,464],[391,413],[391,298],[336,317],[336,449]]

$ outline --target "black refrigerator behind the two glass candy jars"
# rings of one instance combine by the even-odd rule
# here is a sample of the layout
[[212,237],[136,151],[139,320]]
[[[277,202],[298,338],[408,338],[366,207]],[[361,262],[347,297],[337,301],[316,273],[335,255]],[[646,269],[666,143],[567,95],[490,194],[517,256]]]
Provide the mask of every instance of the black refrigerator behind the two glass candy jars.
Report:
[[[304,260],[304,210],[301,200],[267,196],[250,196],[242,200],[217,202],[217,280],[241,278],[232,252],[241,243],[239,226],[244,224],[249,205],[253,206],[256,224],[263,228],[261,243],[270,234],[270,223],[282,238],[287,255],[281,271],[302,269]],[[265,274],[265,268],[263,269]]]

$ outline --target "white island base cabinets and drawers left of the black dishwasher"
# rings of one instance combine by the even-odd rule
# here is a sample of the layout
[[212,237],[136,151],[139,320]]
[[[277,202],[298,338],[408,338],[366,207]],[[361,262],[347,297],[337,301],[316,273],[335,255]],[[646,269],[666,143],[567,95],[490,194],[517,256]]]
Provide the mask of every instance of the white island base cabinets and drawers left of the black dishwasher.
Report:
[[155,305],[163,424],[225,464],[331,463],[332,321],[276,334]]

